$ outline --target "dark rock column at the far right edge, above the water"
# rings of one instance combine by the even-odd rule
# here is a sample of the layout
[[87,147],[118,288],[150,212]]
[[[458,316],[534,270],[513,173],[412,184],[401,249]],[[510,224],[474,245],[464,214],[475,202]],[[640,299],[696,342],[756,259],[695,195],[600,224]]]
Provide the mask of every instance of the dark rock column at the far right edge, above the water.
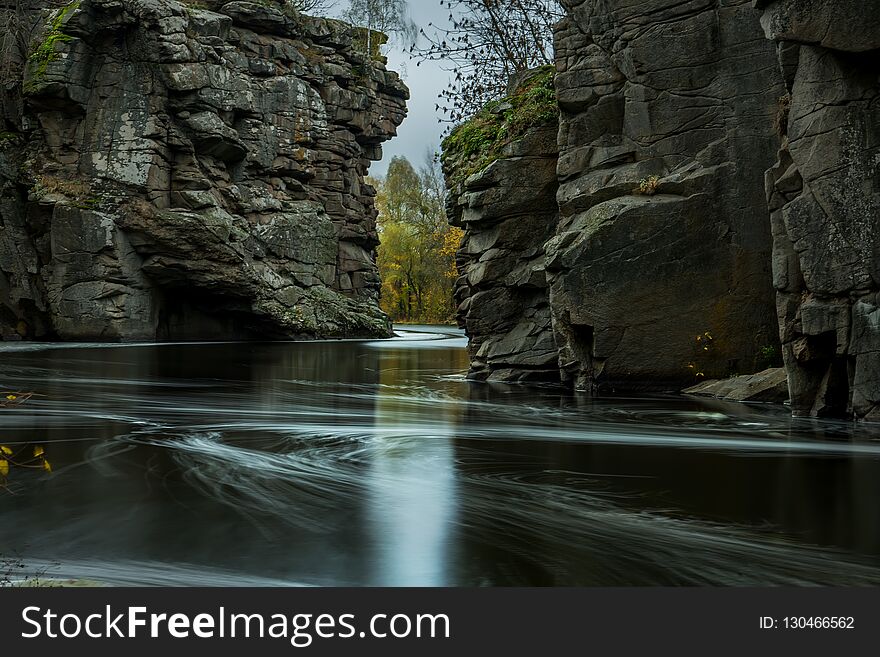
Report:
[[766,188],[792,409],[880,420],[880,2],[754,4],[788,91]]

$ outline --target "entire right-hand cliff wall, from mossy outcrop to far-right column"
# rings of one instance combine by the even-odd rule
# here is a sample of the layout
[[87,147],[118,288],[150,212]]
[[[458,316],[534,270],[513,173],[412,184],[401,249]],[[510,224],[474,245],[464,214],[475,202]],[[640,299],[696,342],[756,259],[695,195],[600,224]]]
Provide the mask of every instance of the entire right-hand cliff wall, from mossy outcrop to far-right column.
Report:
[[446,142],[471,377],[679,390],[781,339],[795,414],[876,418],[877,3],[563,4],[558,119]]

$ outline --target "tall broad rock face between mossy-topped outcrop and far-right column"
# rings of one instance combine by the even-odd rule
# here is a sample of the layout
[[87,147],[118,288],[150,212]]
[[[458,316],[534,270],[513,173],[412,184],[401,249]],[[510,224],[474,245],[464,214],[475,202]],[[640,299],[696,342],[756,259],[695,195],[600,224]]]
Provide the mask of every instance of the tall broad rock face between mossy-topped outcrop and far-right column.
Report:
[[547,244],[560,368],[578,388],[753,372],[777,343],[768,212],[784,94],[746,0],[566,0],[561,222]]

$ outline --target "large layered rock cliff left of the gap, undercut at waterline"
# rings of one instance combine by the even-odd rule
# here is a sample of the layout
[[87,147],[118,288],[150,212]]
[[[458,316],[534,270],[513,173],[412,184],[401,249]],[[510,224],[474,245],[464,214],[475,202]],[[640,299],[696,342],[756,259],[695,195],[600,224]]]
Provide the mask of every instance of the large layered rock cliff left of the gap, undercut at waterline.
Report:
[[41,19],[4,105],[2,337],[388,334],[364,177],[405,86],[344,23],[207,6]]

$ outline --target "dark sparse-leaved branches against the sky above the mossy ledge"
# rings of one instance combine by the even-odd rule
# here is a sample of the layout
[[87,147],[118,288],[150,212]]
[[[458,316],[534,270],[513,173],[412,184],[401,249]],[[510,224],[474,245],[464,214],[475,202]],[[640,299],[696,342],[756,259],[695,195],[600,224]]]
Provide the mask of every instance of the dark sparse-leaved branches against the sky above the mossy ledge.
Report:
[[553,26],[563,17],[559,0],[440,0],[447,27],[420,30],[412,54],[439,61],[452,73],[437,109],[457,123],[505,95],[516,73],[553,63]]

